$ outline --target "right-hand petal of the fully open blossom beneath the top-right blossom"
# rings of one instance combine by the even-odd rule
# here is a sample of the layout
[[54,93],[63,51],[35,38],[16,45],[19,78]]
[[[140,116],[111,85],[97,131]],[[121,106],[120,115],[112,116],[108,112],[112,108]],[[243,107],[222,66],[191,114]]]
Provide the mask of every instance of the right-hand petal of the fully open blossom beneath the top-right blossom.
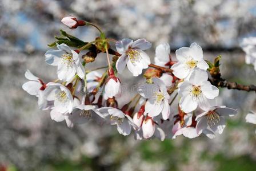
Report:
[[207,99],[214,99],[219,95],[219,89],[211,85],[211,83],[208,81],[202,83],[201,91]]

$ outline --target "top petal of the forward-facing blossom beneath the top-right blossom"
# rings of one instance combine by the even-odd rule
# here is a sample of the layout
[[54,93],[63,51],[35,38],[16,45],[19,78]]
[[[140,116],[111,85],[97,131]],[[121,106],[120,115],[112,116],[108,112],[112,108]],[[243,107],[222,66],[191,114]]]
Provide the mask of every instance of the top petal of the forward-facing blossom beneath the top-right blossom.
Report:
[[189,82],[195,86],[201,86],[202,82],[205,82],[207,79],[208,79],[208,74],[205,70],[201,70],[200,68],[195,68],[189,78]]

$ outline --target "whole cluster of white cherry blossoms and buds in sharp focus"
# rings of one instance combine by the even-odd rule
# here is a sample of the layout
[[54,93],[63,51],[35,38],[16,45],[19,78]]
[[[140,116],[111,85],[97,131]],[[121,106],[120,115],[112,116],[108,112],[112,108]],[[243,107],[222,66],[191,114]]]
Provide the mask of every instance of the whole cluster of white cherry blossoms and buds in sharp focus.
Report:
[[[159,44],[152,65],[145,52],[151,43],[146,39],[107,39],[91,23],[74,17],[63,18],[62,22],[71,29],[94,26],[101,37],[90,43],[67,34],[69,39],[58,38],[60,41],[54,43],[57,50],[45,53],[46,63],[57,67],[58,79],[54,82],[44,82],[26,71],[29,81],[22,88],[38,97],[39,108],[49,110],[52,120],[66,121],[70,128],[90,120],[101,125],[116,125],[121,135],[133,132],[138,140],[175,139],[179,135],[191,139],[202,133],[209,138],[215,137],[215,133],[221,134],[227,117],[237,113],[237,109],[217,105],[219,89],[208,81],[209,64],[197,43],[179,48],[175,52],[177,61],[170,55],[169,44]],[[115,50],[110,48],[109,41],[115,42]],[[74,45],[81,42],[82,45]],[[89,51],[81,55],[83,50]],[[101,52],[106,53],[108,63],[105,73],[101,74],[97,68],[87,70],[86,64],[94,62]],[[110,52],[114,54],[112,62]],[[121,107],[115,97],[124,96],[118,75],[126,67],[134,77],[146,70],[145,82]],[[178,105],[173,105],[174,100]]]

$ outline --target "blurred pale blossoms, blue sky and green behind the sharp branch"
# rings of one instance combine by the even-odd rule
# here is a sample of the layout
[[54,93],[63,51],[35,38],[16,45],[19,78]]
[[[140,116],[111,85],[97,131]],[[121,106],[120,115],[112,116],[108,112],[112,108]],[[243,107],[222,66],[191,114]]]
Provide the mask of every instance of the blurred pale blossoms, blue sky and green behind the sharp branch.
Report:
[[109,38],[146,38],[153,43],[147,51],[152,61],[159,43],[169,43],[174,53],[197,42],[206,59],[222,55],[223,78],[256,84],[253,66],[245,64],[239,47],[242,38],[256,36],[254,0],[1,0],[1,171],[255,170],[256,126],[245,123],[247,112],[256,110],[255,92],[220,89],[219,103],[238,108],[238,115],[213,140],[135,141],[107,125],[70,129],[39,111],[37,99],[21,88],[25,71],[46,81],[56,78],[56,68],[45,64],[43,54],[60,29],[84,41],[98,34],[92,27],[69,30],[60,22],[66,15],[96,23]]

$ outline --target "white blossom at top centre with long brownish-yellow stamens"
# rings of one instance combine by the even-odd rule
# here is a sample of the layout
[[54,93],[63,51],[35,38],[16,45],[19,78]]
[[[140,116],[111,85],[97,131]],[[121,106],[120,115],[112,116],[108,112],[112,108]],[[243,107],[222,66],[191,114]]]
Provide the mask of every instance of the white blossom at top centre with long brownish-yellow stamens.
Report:
[[133,41],[131,39],[122,39],[115,43],[115,47],[121,56],[118,58],[115,67],[118,73],[122,73],[127,66],[128,70],[133,76],[138,76],[143,69],[149,67],[150,58],[144,52],[151,47],[151,43],[146,39],[138,39]]

